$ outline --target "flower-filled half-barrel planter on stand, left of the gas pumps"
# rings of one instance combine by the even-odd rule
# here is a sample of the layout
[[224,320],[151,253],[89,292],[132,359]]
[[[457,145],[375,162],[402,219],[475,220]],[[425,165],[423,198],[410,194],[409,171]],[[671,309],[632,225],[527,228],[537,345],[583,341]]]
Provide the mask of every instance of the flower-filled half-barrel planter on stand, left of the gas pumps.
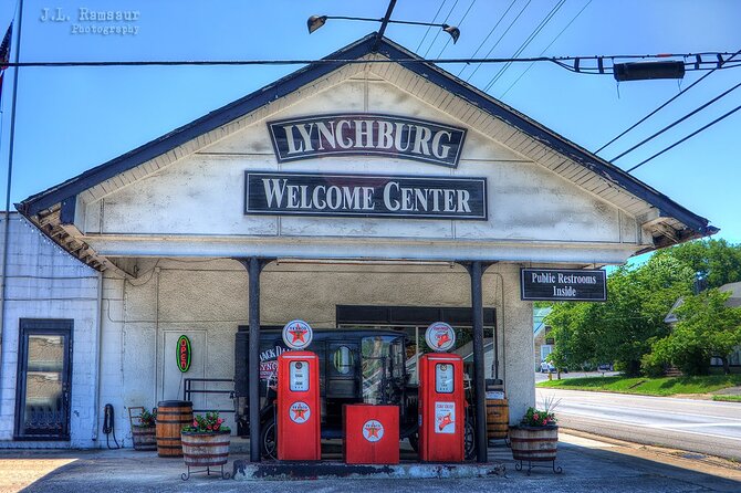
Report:
[[182,479],[190,478],[190,468],[206,468],[206,473],[210,474],[210,468],[221,466],[221,478],[227,478],[223,473],[223,464],[229,458],[229,434],[231,430],[223,424],[223,419],[219,418],[218,412],[207,412],[206,416],[196,415],[187,427],[180,431],[180,441],[182,443],[182,457],[188,466],[188,473],[182,474]]

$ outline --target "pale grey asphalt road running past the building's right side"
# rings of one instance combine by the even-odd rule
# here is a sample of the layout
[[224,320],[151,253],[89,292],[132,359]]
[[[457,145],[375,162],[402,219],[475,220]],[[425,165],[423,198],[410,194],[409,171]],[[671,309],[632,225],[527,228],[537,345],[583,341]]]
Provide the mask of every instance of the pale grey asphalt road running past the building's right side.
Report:
[[741,403],[539,388],[564,428],[741,461]]

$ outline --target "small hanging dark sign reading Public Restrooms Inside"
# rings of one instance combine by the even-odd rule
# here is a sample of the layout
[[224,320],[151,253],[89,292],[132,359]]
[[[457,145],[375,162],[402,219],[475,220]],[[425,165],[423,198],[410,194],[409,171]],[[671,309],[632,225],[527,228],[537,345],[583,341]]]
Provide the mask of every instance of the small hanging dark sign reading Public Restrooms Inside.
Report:
[[572,269],[521,269],[522,300],[557,302],[604,302],[605,271]]

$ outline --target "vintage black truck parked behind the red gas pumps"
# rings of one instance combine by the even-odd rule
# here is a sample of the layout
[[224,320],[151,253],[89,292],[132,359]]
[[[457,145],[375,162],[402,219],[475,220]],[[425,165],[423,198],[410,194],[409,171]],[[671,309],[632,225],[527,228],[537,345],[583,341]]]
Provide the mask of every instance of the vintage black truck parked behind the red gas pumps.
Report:
[[[236,349],[236,396],[238,434],[249,437],[247,399],[248,327],[240,327]],[[275,458],[275,384],[278,356],[290,350],[281,331],[261,329],[260,337],[260,443],[262,453]],[[416,358],[408,354],[407,335],[400,331],[314,331],[307,348],[320,359],[322,439],[343,437],[342,407],[346,403],[396,405],[399,407],[399,438],[418,442],[418,386],[410,382]],[[470,392],[467,392],[470,400]],[[469,406],[472,410],[472,407]],[[467,412],[466,455],[473,457],[473,415]]]

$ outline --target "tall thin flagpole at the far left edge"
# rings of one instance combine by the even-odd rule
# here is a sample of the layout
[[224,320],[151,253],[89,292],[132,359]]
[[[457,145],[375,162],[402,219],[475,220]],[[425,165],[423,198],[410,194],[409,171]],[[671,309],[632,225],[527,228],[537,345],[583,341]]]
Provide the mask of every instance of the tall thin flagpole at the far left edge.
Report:
[[[12,24],[11,24],[12,25]],[[15,34],[15,63],[19,62],[21,57],[21,27],[23,25],[23,0],[19,0],[18,3],[18,32]],[[8,294],[7,280],[6,275],[8,271],[8,237],[10,235],[10,185],[12,182],[13,176],[13,149],[15,141],[15,106],[18,102],[18,72],[20,67],[15,65],[13,71],[13,97],[12,97],[12,108],[10,112],[10,140],[8,145],[8,183],[6,187],[6,223],[4,223],[4,234],[2,238],[2,274],[1,282],[2,289],[0,289],[0,413],[2,413],[2,347],[3,347],[3,332],[6,328],[6,297]]]

